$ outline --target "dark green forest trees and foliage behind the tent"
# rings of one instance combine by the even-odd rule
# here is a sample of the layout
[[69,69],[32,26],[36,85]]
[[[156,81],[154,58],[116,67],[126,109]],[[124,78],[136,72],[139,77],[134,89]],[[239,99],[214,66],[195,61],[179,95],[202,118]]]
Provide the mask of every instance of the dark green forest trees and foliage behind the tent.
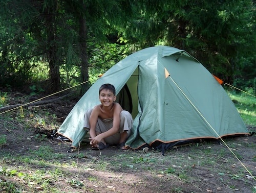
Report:
[[255,93],[252,0],[3,0],[0,26],[2,87],[50,85],[45,90],[54,92],[92,84],[127,55],[169,45]]

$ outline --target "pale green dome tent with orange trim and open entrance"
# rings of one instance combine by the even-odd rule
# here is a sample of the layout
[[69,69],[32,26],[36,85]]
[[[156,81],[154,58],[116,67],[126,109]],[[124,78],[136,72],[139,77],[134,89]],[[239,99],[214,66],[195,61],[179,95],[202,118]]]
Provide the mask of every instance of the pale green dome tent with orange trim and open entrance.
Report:
[[196,58],[175,47],[154,46],[115,64],[82,96],[57,131],[72,147],[87,134],[84,112],[100,104],[98,90],[105,83],[115,86],[118,102],[133,115],[125,143],[132,149],[166,150],[177,142],[248,134],[221,84]]

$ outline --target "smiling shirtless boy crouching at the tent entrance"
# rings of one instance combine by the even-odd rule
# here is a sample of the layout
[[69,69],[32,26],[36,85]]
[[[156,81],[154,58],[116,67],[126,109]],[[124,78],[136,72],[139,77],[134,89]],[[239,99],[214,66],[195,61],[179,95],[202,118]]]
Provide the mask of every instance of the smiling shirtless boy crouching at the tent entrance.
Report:
[[90,129],[90,144],[93,150],[102,150],[109,145],[119,144],[125,150],[124,143],[133,124],[132,115],[115,102],[116,89],[111,84],[99,88],[100,105],[86,112],[84,128]]

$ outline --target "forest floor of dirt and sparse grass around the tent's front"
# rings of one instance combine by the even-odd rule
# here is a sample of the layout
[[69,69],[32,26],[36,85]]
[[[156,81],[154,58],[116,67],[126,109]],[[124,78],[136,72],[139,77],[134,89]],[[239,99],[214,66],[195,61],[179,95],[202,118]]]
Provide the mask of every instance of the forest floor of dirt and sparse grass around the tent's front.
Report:
[[150,149],[95,151],[87,141],[66,153],[71,142],[52,139],[48,131],[59,127],[75,103],[0,115],[0,135],[7,139],[0,146],[1,192],[256,192],[250,175],[256,175],[255,134],[224,139],[229,148],[201,140],[165,156]]

